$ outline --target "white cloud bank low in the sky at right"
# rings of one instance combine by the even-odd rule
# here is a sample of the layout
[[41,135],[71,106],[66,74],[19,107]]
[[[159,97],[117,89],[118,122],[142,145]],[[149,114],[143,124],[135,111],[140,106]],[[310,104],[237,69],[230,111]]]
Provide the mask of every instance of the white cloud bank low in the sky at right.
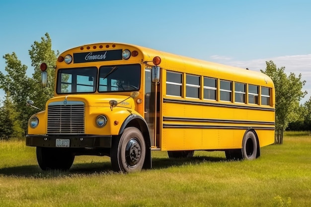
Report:
[[232,59],[215,59],[213,57],[211,57],[211,59],[218,60],[217,61],[218,63],[245,69],[248,68],[257,71],[259,71],[260,69],[264,70],[266,68],[266,61],[271,60],[277,66],[277,68],[285,67],[285,72],[287,74],[289,74],[290,72],[295,73],[296,76],[298,76],[299,73],[302,74],[302,80],[306,80],[306,84],[303,87],[303,90],[304,91],[306,90],[308,94],[303,100],[301,100],[301,103],[304,103],[307,100],[309,100],[311,96],[311,54],[280,56],[280,57],[255,59],[248,61],[234,61]]

